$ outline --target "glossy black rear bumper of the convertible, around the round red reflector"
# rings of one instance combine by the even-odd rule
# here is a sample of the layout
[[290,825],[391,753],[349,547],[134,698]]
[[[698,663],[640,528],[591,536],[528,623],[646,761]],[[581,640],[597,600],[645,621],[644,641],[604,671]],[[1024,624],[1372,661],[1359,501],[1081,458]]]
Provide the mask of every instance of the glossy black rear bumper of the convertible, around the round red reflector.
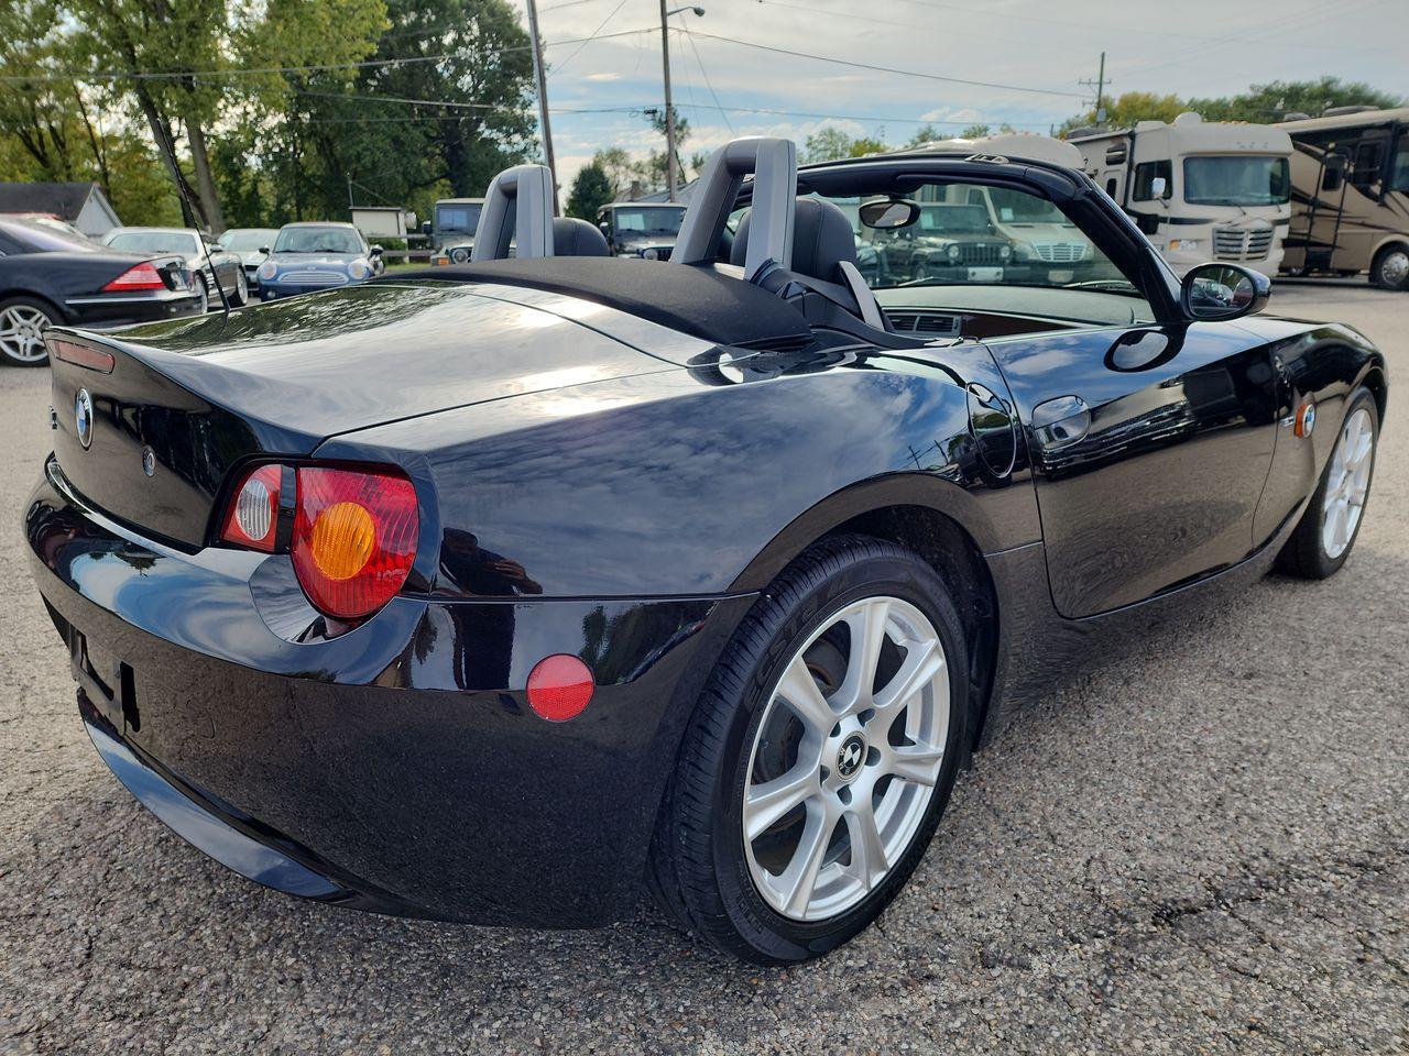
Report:
[[[165,551],[54,463],[25,528],[83,719],[138,800],[269,887],[437,919],[595,925],[634,904],[689,707],[751,603],[396,598],[290,641],[299,598],[271,612],[259,582],[279,558]],[[597,680],[564,724],[523,693],[555,652]]]

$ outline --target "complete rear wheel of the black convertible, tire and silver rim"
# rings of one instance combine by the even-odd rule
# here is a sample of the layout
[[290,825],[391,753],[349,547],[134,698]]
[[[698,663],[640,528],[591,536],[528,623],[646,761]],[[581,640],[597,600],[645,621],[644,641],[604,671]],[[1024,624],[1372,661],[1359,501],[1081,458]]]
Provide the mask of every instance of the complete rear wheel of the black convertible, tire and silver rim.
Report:
[[652,848],[664,908],[758,963],[865,928],[944,812],[967,670],[958,611],[914,553],[841,536],[797,558],[734,632],[686,732]]

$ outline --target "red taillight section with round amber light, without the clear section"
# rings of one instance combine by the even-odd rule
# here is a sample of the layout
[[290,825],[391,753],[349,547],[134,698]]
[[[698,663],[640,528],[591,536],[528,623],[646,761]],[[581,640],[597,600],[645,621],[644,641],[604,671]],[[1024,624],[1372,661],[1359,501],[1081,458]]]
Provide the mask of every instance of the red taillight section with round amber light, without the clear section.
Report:
[[393,470],[300,466],[293,570],[314,607],[340,620],[371,615],[416,562],[416,487]]

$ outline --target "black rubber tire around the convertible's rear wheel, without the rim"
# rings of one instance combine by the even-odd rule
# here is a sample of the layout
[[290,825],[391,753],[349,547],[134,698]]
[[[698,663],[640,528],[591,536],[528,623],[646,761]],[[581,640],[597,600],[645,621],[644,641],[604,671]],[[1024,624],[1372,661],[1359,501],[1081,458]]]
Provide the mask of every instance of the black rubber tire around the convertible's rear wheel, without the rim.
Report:
[[[848,911],[797,921],[775,912],[750,874],[741,811],[754,736],[797,646],[869,596],[913,604],[938,635],[954,676],[944,759],[923,819],[890,870]],[[744,618],[700,696],[651,850],[650,886],[661,907],[716,948],[764,964],[820,956],[871,924],[914,872],[944,814],[968,722],[967,670],[958,611],[919,556],[861,535],[806,551]]]

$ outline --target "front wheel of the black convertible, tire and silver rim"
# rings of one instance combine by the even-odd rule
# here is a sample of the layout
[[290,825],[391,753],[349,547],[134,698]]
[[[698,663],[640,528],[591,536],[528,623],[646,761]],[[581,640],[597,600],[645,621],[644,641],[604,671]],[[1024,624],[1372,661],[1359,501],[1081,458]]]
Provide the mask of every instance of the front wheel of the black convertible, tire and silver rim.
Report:
[[1358,389],[1350,400],[1316,494],[1277,556],[1278,569],[1302,579],[1326,579],[1350,556],[1370,500],[1379,439],[1375,397]]

